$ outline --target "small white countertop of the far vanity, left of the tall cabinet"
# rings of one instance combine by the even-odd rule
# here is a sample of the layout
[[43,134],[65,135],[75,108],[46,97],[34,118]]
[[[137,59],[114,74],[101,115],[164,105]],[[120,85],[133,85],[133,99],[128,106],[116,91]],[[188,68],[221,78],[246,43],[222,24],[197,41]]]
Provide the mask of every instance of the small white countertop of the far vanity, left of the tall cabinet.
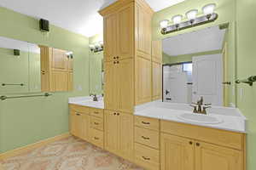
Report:
[[99,101],[93,101],[92,98],[91,96],[68,98],[68,104],[104,109],[104,101],[101,96],[98,96]]

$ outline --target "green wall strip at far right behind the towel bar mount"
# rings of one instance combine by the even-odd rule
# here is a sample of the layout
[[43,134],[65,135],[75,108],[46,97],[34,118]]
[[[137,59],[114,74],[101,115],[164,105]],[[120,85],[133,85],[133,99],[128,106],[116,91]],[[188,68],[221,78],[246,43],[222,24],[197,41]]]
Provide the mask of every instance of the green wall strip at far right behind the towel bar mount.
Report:
[[[256,1],[237,0],[237,77],[256,76]],[[241,95],[241,90],[243,91]],[[256,83],[237,85],[237,105],[247,116],[247,170],[256,169]]]

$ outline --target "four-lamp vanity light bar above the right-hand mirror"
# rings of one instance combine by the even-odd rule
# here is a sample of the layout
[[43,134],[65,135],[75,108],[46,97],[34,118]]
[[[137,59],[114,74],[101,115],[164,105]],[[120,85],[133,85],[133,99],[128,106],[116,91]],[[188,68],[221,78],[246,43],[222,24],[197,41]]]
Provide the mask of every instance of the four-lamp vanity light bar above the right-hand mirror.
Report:
[[182,31],[187,28],[201,26],[208,24],[210,22],[214,22],[218,19],[218,14],[214,13],[214,9],[216,7],[215,3],[210,3],[205,5],[203,10],[203,16],[197,17],[198,10],[192,9],[186,13],[187,20],[182,21],[183,15],[177,14],[172,17],[173,24],[168,26],[168,20],[160,21],[160,29],[163,35],[172,33],[175,31]]

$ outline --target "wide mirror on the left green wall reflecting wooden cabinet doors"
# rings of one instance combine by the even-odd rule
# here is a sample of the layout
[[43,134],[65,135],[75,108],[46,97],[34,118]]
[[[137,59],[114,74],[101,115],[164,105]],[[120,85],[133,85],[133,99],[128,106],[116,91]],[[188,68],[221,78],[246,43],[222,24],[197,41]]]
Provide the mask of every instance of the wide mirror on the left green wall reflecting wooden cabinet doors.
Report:
[[72,91],[73,57],[67,50],[0,37],[0,94]]

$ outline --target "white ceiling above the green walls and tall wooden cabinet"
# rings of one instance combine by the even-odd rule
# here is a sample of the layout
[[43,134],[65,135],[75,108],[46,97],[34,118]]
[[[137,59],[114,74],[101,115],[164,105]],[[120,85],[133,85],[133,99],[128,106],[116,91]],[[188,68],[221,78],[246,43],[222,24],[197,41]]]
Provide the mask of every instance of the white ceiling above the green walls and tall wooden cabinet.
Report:
[[[43,18],[55,26],[86,37],[102,32],[102,17],[97,11],[117,0],[1,0],[0,6],[21,14]],[[184,0],[146,0],[154,11]]]

